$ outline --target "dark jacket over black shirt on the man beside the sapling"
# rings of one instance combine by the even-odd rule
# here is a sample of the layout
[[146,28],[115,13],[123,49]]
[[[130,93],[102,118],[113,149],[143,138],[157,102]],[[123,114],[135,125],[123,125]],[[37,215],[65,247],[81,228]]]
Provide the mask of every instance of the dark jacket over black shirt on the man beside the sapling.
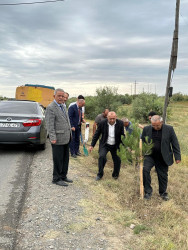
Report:
[[[152,126],[146,126],[143,129],[142,141],[145,142],[145,137],[148,136],[149,141],[152,139]],[[162,139],[161,139],[161,154],[165,163],[170,166],[173,164],[173,155],[175,160],[181,160],[179,142],[174,129],[170,125],[163,124]]]

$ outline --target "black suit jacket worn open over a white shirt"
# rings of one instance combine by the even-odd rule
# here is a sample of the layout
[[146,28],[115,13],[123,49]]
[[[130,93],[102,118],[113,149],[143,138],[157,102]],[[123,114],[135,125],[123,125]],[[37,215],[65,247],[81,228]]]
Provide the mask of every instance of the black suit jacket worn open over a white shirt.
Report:
[[[107,144],[107,139],[108,139],[108,120],[101,121],[97,127],[97,130],[93,136],[91,146],[94,147],[95,144],[97,143],[100,135],[100,144],[99,144],[99,150],[101,147],[104,147]],[[116,120],[115,124],[115,145],[116,148],[119,148],[119,145],[121,143],[121,136],[124,136],[124,125],[121,120]]]

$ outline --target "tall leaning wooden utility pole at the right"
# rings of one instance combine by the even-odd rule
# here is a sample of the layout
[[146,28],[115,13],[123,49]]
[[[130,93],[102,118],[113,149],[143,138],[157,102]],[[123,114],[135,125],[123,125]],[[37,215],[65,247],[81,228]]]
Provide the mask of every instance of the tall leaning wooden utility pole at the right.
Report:
[[170,93],[170,84],[172,79],[172,73],[174,72],[177,64],[177,55],[178,55],[178,28],[179,28],[179,9],[180,9],[180,0],[176,0],[176,16],[175,16],[175,29],[172,42],[171,57],[168,70],[166,94],[165,94],[165,103],[163,109],[163,122],[166,123],[166,113],[167,107],[169,104],[169,93]]

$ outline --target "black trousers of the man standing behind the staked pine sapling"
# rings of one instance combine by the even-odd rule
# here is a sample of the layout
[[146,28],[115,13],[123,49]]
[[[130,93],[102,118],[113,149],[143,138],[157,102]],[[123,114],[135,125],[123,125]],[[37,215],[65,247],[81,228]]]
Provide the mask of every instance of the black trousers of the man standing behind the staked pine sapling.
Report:
[[143,167],[143,181],[144,181],[144,192],[152,193],[151,187],[151,169],[155,166],[158,176],[159,182],[159,194],[166,193],[167,184],[168,184],[168,166],[164,162],[163,159],[146,156],[144,159],[144,167]]

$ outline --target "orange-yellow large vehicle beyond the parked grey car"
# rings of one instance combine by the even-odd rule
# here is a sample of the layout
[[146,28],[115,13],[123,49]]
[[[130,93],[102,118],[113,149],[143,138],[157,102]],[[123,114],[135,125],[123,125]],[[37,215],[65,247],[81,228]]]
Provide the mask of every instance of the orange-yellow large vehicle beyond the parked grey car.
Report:
[[39,102],[44,108],[54,100],[54,87],[45,85],[25,84],[16,88],[16,100]]

